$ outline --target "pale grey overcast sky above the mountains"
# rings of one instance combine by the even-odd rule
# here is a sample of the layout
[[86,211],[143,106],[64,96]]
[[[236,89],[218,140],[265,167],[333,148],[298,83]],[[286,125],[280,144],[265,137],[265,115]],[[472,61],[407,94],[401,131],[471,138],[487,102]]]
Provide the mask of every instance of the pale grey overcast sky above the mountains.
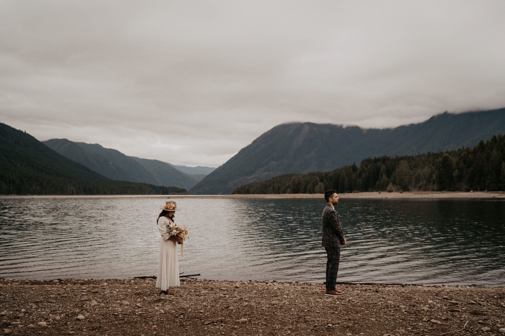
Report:
[[0,122],[217,167],[289,121],[505,106],[505,1],[0,2]]

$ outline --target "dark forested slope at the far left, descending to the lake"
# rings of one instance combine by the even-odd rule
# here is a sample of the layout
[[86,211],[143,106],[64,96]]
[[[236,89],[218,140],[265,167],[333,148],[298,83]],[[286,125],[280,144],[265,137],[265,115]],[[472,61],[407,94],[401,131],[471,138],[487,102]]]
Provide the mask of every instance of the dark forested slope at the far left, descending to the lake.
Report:
[[0,123],[0,194],[173,193],[186,190],[111,180]]

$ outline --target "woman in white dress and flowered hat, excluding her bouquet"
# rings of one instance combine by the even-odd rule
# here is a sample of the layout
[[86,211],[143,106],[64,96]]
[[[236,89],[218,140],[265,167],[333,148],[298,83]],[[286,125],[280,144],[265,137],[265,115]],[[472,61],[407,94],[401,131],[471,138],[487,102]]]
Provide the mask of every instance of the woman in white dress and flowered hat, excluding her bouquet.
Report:
[[177,244],[182,243],[182,239],[171,238],[167,233],[169,227],[174,226],[174,214],[176,211],[181,210],[177,207],[175,201],[167,201],[164,206],[161,206],[162,212],[156,221],[160,229],[160,261],[158,263],[158,279],[156,280],[156,287],[161,289],[160,294],[174,295],[175,292],[171,291],[169,285],[179,286],[179,264],[177,262]]

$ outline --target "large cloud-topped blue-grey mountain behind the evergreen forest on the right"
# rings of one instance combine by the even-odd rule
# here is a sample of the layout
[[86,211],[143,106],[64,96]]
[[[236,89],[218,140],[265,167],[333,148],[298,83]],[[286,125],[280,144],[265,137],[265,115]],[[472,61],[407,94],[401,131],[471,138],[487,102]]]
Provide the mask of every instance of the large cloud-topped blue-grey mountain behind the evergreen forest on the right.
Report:
[[442,113],[417,124],[364,129],[334,124],[275,126],[190,189],[226,194],[239,185],[287,173],[328,171],[381,155],[414,155],[475,146],[505,133],[505,108]]

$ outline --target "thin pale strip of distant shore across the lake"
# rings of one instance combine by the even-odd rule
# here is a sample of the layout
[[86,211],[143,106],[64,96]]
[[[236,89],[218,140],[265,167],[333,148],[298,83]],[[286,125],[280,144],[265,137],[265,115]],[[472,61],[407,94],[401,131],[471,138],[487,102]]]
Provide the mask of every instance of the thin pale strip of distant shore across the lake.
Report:
[[[341,199],[505,199],[503,191],[407,191],[407,192],[353,192],[338,194]],[[230,198],[230,199],[280,199],[323,198],[323,194],[235,194],[235,195],[0,195],[0,198]]]

